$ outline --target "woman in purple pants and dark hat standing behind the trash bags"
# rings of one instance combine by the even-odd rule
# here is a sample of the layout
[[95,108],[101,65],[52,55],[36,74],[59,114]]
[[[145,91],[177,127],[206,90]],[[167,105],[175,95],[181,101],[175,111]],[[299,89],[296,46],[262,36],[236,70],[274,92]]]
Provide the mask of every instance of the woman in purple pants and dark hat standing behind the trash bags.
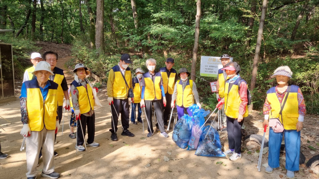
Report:
[[193,105],[194,103],[193,95],[195,97],[196,104],[199,108],[201,108],[196,84],[192,80],[188,80],[189,75],[190,73],[187,71],[186,68],[179,69],[179,74],[177,76],[180,77],[180,80],[175,83],[174,92],[170,104],[171,107],[174,107],[174,101],[176,99],[178,119],[180,119],[184,115],[185,109],[187,110],[189,116],[193,115],[192,112],[188,109],[188,107]]

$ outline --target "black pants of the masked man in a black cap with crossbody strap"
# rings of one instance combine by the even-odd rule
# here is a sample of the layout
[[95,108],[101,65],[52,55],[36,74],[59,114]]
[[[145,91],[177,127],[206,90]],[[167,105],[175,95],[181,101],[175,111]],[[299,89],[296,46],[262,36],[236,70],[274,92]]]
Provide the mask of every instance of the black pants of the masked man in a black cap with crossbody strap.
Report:
[[[128,130],[130,127],[130,104],[129,104],[129,99],[115,99],[113,98],[114,105],[111,104],[111,110],[112,110],[112,117],[113,119],[111,120],[111,127],[110,131],[112,133],[116,133],[118,131],[118,123],[119,123],[119,117],[121,114],[121,122],[122,122],[122,127],[124,131]],[[115,107],[115,108],[114,108]],[[113,125],[114,122],[114,125]],[[115,128],[114,128],[115,127]]]

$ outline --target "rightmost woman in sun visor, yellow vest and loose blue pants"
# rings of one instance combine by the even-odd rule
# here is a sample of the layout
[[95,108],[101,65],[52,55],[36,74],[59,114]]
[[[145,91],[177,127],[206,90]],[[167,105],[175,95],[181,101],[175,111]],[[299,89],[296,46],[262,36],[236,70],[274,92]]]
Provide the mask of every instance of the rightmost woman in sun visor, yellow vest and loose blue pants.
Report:
[[[288,66],[278,67],[271,78],[276,78],[277,86],[267,91],[264,104],[265,120],[263,127],[268,126],[268,119],[279,118],[283,123],[283,132],[269,129],[268,167],[266,173],[273,173],[279,167],[280,147],[285,135],[287,178],[293,179],[294,172],[299,171],[300,131],[303,128],[306,105],[298,86],[290,85],[293,72]],[[282,108],[282,109],[281,109]],[[282,110],[282,112],[280,112]]]

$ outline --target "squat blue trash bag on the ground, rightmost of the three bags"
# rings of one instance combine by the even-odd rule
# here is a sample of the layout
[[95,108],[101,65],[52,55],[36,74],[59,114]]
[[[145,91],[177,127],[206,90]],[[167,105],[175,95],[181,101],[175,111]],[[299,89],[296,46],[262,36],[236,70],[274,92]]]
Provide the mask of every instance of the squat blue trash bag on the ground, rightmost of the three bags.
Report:
[[204,157],[226,157],[221,151],[221,143],[217,130],[213,127],[209,129],[209,127],[210,126],[206,126],[204,128],[195,155]]

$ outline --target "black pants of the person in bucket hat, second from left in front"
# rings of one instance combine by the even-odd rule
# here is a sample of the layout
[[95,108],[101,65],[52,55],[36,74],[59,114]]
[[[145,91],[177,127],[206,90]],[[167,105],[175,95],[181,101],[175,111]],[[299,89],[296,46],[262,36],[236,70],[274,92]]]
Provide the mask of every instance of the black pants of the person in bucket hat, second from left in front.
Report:
[[[94,135],[95,135],[95,113],[92,116],[85,116],[85,115],[81,114],[80,121],[78,121],[78,122],[81,122],[81,124],[82,124],[84,137],[85,137],[86,126],[88,127],[88,140],[87,140],[87,142],[88,142],[88,144],[92,144],[92,142],[94,142]],[[77,129],[76,129],[76,135],[78,138],[78,145],[84,144],[81,124],[78,124]]]

